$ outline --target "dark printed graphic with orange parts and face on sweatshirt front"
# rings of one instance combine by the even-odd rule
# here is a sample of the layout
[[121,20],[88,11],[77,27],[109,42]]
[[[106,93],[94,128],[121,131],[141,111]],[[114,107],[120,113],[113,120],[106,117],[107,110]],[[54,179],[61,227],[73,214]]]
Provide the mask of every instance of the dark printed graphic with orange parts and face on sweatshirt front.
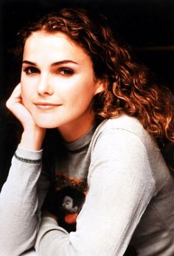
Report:
[[56,190],[50,191],[46,200],[49,212],[58,217],[58,224],[66,231],[76,230],[76,219],[86,199],[86,180],[69,178],[56,172]]

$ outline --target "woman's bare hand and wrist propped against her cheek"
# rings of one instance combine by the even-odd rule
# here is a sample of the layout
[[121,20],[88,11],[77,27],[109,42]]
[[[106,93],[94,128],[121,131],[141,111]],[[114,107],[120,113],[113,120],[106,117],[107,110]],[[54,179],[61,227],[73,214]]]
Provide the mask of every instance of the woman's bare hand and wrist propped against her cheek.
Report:
[[24,128],[20,143],[21,148],[32,151],[40,150],[45,135],[45,129],[36,125],[32,115],[22,103],[21,83],[15,87],[6,105]]

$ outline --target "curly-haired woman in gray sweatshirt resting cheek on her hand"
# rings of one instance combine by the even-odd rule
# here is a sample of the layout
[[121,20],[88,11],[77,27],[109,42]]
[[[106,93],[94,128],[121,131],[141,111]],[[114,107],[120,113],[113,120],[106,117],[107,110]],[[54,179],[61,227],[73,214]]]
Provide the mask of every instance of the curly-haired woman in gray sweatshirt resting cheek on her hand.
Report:
[[86,10],[21,38],[7,108],[24,131],[1,190],[1,254],[173,255],[174,181],[156,143],[173,140],[170,92]]

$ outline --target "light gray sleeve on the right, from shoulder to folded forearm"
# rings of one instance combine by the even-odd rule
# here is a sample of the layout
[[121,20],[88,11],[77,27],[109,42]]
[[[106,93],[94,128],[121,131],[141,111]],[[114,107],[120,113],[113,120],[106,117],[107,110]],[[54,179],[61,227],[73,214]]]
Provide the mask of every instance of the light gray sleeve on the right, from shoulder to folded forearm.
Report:
[[144,143],[129,131],[102,134],[91,152],[88,194],[69,234],[43,218],[35,249],[44,256],[121,256],[155,191]]

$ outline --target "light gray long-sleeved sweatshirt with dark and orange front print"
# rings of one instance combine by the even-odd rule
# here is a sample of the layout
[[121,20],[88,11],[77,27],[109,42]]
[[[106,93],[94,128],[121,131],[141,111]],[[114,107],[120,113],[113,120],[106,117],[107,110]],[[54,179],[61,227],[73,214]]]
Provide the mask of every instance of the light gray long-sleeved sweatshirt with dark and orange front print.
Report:
[[[64,146],[55,164],[58,222],[41,217],[49,187],[42,151],[18,146],[1,190],[0,255],[35,246],[41,256],[121,256],[130,243],[140,256],[173,256],[174,179],[139,121],[104,120]],[[86,196],[83,205],[61,193],[67,187]]]

